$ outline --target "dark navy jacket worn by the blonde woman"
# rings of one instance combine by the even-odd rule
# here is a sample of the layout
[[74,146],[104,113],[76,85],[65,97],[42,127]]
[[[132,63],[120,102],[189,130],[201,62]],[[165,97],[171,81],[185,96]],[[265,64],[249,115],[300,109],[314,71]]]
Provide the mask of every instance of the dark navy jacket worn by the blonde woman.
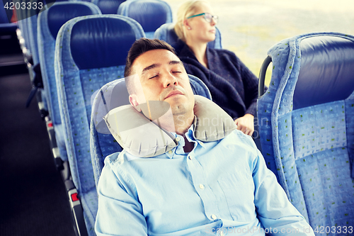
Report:
[[187,45],[178,53],[188,74],[204,82],[217,103],[232,118],[246,113],[256,116],[258,78],[239,60],[234,52],[207,48],[207,63],[204,67]]

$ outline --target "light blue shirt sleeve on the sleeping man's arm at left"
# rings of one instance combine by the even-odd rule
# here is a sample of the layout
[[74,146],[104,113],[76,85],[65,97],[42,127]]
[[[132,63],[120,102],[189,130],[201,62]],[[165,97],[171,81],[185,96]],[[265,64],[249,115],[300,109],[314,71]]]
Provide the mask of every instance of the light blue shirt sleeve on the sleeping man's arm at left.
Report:
[[98,183],[96,235],[147,235],[147,223],[135,187],[118,179],[108,159]]

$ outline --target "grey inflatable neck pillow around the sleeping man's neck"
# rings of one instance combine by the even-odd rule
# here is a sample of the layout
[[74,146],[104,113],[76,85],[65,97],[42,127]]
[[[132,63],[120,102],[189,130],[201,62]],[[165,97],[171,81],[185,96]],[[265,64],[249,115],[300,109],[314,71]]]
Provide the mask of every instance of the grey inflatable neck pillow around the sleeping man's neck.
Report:
[[[164,107],[164,103],[156,103],[156,106]],[[159,123],[164,111],[171,111],[169,104],[160,109],[159,114],[147,115],[149,112],[144,108],[142,111],[145,116],[130,105],[120,106],[104,117],[115,140],[135,157],[154,157],[176,147],[178,142],[173,135],[147,118],[152,116],[152,120]],[[236,129],[234,120],[222,108],[202,96],[195,95],[194,113],[195,138],[202,142],[220,140]]]

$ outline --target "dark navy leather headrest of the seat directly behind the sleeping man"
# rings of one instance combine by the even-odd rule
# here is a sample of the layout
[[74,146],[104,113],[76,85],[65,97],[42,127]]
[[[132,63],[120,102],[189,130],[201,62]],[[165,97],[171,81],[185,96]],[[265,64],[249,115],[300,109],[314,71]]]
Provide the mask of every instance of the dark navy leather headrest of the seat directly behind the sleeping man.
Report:
[[[77,22],[72,28],[70,43],[76,66],[91,69],[124,65],[127,53],[137,38],[132,24],[137,28],[136,21],[117,15],[114,18],[87,18]],[[142,29],[140,33],[144,34]]]

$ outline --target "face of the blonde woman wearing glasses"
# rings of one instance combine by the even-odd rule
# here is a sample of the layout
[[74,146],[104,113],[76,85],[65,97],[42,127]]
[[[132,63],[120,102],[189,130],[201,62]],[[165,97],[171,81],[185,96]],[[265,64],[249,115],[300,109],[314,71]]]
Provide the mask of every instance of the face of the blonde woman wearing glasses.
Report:
[[[206,4],[201,4],[197,11],[195,11],[194,15],[198,15],[200,13],[210,13],[214,15],[214,11],[212,11],[211,7]],[[215,40],[215,21],[212,18],[211,22],[207,22],[202,16],[195,16],[193,18],[185,19],[185,27],[186,28],[186,40],[193,41],[193,43],[208,43],[210,41]],[[188,29],[190,28],[190,29]]]

